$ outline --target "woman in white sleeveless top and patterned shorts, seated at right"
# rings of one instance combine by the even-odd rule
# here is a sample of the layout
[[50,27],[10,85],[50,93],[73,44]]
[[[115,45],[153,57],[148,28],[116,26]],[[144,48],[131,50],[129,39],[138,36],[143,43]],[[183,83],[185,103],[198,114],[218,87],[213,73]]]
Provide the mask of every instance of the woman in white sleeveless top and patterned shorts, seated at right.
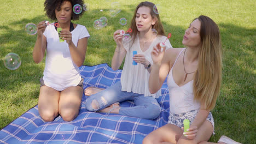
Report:
[[[219,28],[212,19],[201,15],[185,31],[182,43],[187,47],[166,52],[158,44],[151,53],[149,91],[157,92],[168,75],[170,116],[168,124],[145,137],[144,144],[210,143],[207,141],[214,134],[210,110],[216,104],[222,82]],[[184,119],[191,123],[186,133],[183,133]],[[219,143],[230,141],[222,137]]]

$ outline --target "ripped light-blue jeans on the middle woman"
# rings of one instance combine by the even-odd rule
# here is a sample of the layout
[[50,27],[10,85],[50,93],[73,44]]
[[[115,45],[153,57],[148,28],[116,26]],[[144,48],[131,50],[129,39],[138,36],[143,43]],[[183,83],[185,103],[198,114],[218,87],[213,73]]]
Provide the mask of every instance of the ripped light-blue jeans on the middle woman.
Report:
[[[133,100],[136,106],[120,107],[120,115],[145,119],[154,119],[160,115],[161,107],[155,98],[144,97],[144,94],[121,91],[121,88],[121,82],[117,82],[113,86],[91,95],[85,101],[86,109],[98,111],[117,102]],[[91,107],[92,100],[97,100],[99,109],[95,110]]]

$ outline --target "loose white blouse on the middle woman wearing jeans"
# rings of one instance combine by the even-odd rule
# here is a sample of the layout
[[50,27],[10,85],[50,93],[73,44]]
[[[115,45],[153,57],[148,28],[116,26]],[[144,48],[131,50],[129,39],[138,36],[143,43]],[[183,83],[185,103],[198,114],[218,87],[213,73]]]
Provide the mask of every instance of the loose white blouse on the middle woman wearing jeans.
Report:
[[[161,89],[151,94],[148,89],[148,79],[150,73],[147,69],[144,68],[143,64],[138,63],[137,65],[132,65],[132,51],[137,51],[137,54],[142,54],[145,56],[145,58],[153,64],[153,60],[151,58],[151,52],[153,50],[153,47],[160,43],[164,42],[166,40],[166,37],[163,35],[158,35],[152,44],[149,46],[149,48],[142,52],[141,47],[139,46],[139,37],[136,35],[136,39],[134,43],[132,44],[132,41],[130,43],[123,43],[126,52],[125,56],[125,63],[123,67],[123,71],[121,74],[121,85],[122,85],[122,91],[126,92],[133,92],[138,94],[144,94],[145,97],[152,96],[154,98],[158,98],[161,95]],[[131,45],[132,44],[132,45]],[[166,50],[169,48],[172,48],[172,45],[169,40],[166,40],[165,42]]]

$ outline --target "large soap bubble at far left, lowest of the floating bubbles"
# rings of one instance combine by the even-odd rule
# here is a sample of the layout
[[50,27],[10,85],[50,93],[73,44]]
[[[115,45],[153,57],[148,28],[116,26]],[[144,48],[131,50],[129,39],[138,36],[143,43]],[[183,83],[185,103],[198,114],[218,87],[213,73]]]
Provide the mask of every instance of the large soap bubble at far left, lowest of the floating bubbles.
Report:
[[18,69],[20,64],[20,56],[16,53],[11,52],[4,57],[4,66],[10,70]]

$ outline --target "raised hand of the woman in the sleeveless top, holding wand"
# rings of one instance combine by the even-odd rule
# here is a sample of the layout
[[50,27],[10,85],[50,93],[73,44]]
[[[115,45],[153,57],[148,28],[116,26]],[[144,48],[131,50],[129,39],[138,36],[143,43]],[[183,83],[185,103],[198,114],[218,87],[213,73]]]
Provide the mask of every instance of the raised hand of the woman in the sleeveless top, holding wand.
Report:
[[156,44],[153,47],[153,50],[151,52],[151,57],[154,64],[161,65],[162,58],[164,57],[166,47],[163,47],[163,50],[161,51],[160,43]]

